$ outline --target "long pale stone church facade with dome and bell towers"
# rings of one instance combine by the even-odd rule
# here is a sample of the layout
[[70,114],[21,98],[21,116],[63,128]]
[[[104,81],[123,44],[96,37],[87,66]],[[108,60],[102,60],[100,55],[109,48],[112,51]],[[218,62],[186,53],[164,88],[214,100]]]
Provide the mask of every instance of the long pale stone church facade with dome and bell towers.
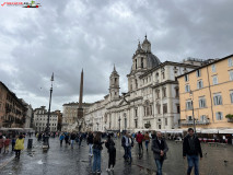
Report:
[[109,93],[84,114],[83,130],[142,131],[179,127],[179,90],[176,77],[198,68],[160,59],[151,51],[147,36],[132,56],[128,92],[119,94],[119,74],[114,66]]

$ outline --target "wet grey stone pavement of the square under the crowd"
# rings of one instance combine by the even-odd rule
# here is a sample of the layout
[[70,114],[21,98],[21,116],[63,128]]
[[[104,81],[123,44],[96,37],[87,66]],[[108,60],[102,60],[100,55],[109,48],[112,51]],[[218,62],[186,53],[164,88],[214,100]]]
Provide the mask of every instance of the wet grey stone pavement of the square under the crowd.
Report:
[[[34,148],[25,150],[20,160],[13,159],[4,167],[0,168],[1,175],[89,175],[93,158],[89,158],[89,147],[83,141],[82,147],[74,144],[61,147],[58,138],[50,138],[50,149],[43,152],[42,142],[34,138]],[[120,147],[120,139],[115,140],[117,156],[114,172],[107,173],[108,154],[104,147],[102,151],[102,174],[103,175],[155,175],[155,163],[153,154],[143,152],[141,160],[138,159],[137,144],[132,149],[132,164],[124,162],[124,150]],[[170,151],[167,160],[163,165],[163,175],[185,175],[187,161],[182,156],[182,143],[167,141]],[[143,145],[144,147],[144,145]],[[202,144],[203,159],[200,161],[200,175],[232,175],[233,173],[233,147],[209,147]]]

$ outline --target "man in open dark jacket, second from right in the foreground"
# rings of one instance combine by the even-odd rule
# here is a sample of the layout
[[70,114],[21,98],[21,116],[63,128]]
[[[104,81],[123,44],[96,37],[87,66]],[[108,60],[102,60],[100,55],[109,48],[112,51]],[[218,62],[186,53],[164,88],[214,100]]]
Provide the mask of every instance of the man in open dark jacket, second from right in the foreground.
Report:
[[156,132],[156,138],[152,140],[151,150],[153,151],[154,161],[158,168],[158,175],[162,175],[163,162],[166,159],[168,147],[165,139],[162,138],[160,131]]

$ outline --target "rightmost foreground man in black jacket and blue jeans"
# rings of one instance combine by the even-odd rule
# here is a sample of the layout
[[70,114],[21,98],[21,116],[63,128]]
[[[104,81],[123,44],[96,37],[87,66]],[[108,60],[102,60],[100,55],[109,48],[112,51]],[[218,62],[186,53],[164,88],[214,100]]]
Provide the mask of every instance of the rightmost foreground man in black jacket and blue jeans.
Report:
[[202,151],[199,139],[194,135],[194,129],[188,129],[188,135],[185,137],[183,142],[183,156],[188,160],[187,175],[191,174],[191,168],[195,166],[195,175],[199,175],[199,158],[202,159]]

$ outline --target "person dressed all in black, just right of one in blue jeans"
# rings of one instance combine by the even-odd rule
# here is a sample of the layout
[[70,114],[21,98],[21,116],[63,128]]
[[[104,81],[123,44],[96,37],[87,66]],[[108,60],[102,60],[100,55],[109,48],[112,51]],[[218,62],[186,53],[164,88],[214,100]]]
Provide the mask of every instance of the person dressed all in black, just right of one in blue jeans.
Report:
[[[105,143],[105,147],[107,148],[107,152],[109,154],[108,159],[108,167],[106,168],[107,172],[114,171],[114,166],[116,163],[116,148],[115,148],[115,142],[110,138],[110,135],[107,136],[107,141]],[[112,165],[112,167],[110,167]]]

